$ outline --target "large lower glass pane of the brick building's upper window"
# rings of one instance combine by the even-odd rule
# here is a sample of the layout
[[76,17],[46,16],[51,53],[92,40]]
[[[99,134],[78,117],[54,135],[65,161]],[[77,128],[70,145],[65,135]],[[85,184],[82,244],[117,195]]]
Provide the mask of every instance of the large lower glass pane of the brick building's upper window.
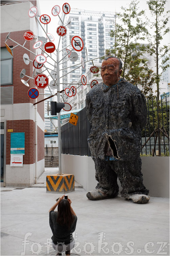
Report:
[[12,59],[1,60],[1,85],[12,83]]

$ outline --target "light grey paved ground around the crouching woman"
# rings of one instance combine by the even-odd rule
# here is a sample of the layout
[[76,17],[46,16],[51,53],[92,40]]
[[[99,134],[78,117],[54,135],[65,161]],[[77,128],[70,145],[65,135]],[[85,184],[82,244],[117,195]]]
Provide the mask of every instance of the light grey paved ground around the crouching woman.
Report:
[[[48,210],[60,195],[1,188],[1,255],[56,255]],[[120,196],[89,201],[80,188],[68,195],[78,217],[71,255],[169,255],[168,198],[140,205]]]

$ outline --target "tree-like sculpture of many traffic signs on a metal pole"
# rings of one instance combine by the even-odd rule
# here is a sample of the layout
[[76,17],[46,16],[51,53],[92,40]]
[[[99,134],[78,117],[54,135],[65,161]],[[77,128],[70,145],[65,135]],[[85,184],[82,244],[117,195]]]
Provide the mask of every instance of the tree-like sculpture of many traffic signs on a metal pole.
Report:
[[[64,14],[68,14],[68,13],[70,12],[70,5],[69,5],[68,3],[64,3],[62,9],[63,9]],[[45,24],[45,25],[46,25],[46,31],[48,31],[47,26],[48,26],[48,23],[51,21],[50,16],[49,16],[49,15],[46,15],[46,14],[43,14],[43,15],[41,15],[41,16],[37,16],[37,12],[38,12],[37,7],[36,7],[36,6],[32,6],[32,7],[29,9],[29,11],[28,11],[28,15],[29,15],[30,18],[34,18],[34,17],[35,17],[35,18],[36,18],[36,21],[39,23],[39,25],[40,25],[41,27],[42,27],[42,24],[41,24],[41,23]],[[55,5],[55,6],[52,8],[52,11],[51,11],[51,12],[52,12],[52,15],[53,15],[53,16],[58,16],[59,19],[60,19],[60,21],[62,22],[62,25],[57,28],[57,34],[58,34],[59,36],[64,36],[64,35],[66,35],[66,33],[67,33],[67,28],[69,28],[70,25],[71,25],[71,19],[69,18],[69,19],[67,20],[67,24],[65,25],[65,23],[64,23],[65,15],[63,16],[63,19],[60,18],[60,16],[59,16],[60,7],[59,7],[58,5]],[[60,23],[60,24],[61,24],[61,23]],[[67,28],[66,28],[66,26],[67,26]],[[43,29],[43,27],[42,27],[42,29]],[[44,46],[44,45],[47,43],[47,39],[48,39],[48,42],[50,42],[50,43],[54,41],[54,36],[53,36],[52,34],[47,33],[44,29],[43,29],[43,31],[44,31],[44,33],[45,33],[45,35],[46,35],[46,38],[45,38],[44,36],[40,36],[40,37],[38,36],[38,40],[39,40],[39,41],[37,41],[36,43],[34,42],[34,46],[33,46],[34,49],[39,49],[42,45]],[[31,41],[31,40],[34,39],[34,33],[33,33],[32,31],[28,30],[28,31],[26,31],[26,32],[24,33],[23,37],[24,37],[25,41]],[[32,77],[26,76],[26,75],[25,75],[26,69],[23,69],[23,70],[21,71],[20,77],[23,78],[24,76],[26,76],[26,77],[29,78],[28,80],[33,79],[35,86],[38,87],[38,88],[40,88],[40,89],[45,89],[45,88],[48,86],[48,77],[47,77],[45,74],[42,74],[42,72],[41,72],[41,73],[38,73],[38,69],[42,68],[43,64],[46,62],[46,60],[47,60],[46,55],[47,55],[47,57],[48,57],[48,64],[52,65],[53,69],[51,69],[52,67],[50,67],[50,68],[45,67],[45,70],[44,70],[44,71],[47,71],[48,74],[49,74],[48,76],[52,78],[52,81],[51,81],[52,83],[50,82],[50,84],[51,84],[52,87],[55,87],[55,89],[57,89],[57,93],[56,93],[56,94],[57,94],[57,101],[60,102],[60,101],[61,101],[61,97],[60,97],[60,96],[62,96],[62,95],[60,95],[60,93],[62,93],[62,92],[64,91],[64,90],[60,91],[60,68],[59,68],[59,64],[62,64],[62,63],[60,63],[60,61],[61,61],[62,59],[59,60],[59,59],[60,59],[60,56],[59,56],[59,52],[60,52],[60,51],[59,51],[60,40],[59,40],[59,44],[58,44],[58,49],[55,49],[55,51],[57,52],[57,54],[56,54],[56,53],[53,54],[53,55],[56,56],[56,60],[54,60],[55,57],[53,57],[53,55],[52,55],[52,52],[53,52],[53,50],[54,50],[54,47],[48,48],[48,47],[51,47],[52,45],[45,47],[45,49],[41,49],[41,48],[40,48],[40,49],[41,49],[41,54],[38,54],[38,55],[37,55],[37,53],[35,53],[35,52],[33,52],[33,51],[30,51],[30,49],[27,49],[26,47],[24,47],[24,45],[25,45],[26,42],[24,43],[24,45],[20,45],[20,44],[18,44],[16,41],[14,41],[12,38],[10,38],[10,32],[8,33],[8,35],[7,35],[6,38],[5,38],[5,44],[6,44],[6,41],[7,41],[7,40],[13,41],[13,43],[16,43],[16,44],[17,44],[15,47],[20,46],[20,47],[22,47],[22,48],[28,50],[29,52],[31,52],[31,54],[33,54],[33,55],[35,56],[35,60],[33,61],[33,76],[32,76]],[[48,45],[48,44],[47,44],[47,45]],[[69,55],[69,59],[67,59],[67,60],[65,60],[65,61],[71,60],[72,62],[76,62],[76,61],[78,60],[78,58],[79,58],[79,55],[78,55],[77,52],[78,52],[78,51],[82,51],[82,49],[83,49],[83,47],[84,47],[84,43],[83,43],[82,38],[81,38],[80,36],[78,36],[78,35],[73,36],[72,39],[71,39],[71,45],[72,45],[72,49],[68,50],[68,47],[70,46],[70,45],[68,45],[68,46],[66,46],[64,49],[62,49],[62,51],[67,48],[67,53],[68,53],[68,55]],[[10,47],[9,47],[7,44],[6,44],[6,47],[7,47],[7,50],[10,52],[10,54],[13,55],[12,49],[10,49]],[[48,49],[52,49],[52,51],[49,52],[50,55],[46,53],[46,52],[48,52]],[[73,49],[74,49],[76,52],[73,51]],[[39,52],[38,52],[38,53],[39,53]],[[105,56],[106,56],[106,55],[101,56],[101,57],[105,57]],[[99,57],[99,58],[101,58],[101,57]],[[67,54],[65,55],[64,58],[68,58],[68,57],[67,57]],[[64,58],[63,58],[63,59],[64,59]],[[28,55],[26,55],[26,54],[24,54],[23,59],[24,59],[24,62],[25,62],[26,65],[28,65],[29,62],[31,61],[31,60],[29,59]],[[54,61],[54,64],[52,64],[52,62],[49,62],[49,59],[52,60],[52,61]],[[95,58],[95,59],[98,59],[98,58]],[[91,62],[91,61],[93,61],[93,60],[94,60],[94,59],[90,59],[90,58],[89,58],[88,62]],[[64,62],[65,62],[65,61],[64,61]],[[80,64],[82,64],[82,65],[80,65]],[[32,64],[31,64],[31,65],[32,65]],[[78,63],[78,64],[76,64],[76,65],[78,65],[77,68],[84,67],[84,60],[82,59],[81,63]],[[76,65],[73,65],[73,66],[76,66]],[[44,66],[45,66],[45,65],[44,65]],[[32,68],[32,67],[31,67],[31,68]],[[75,68],[75,69],[77,69],[77,68]],[[72,69],[70,72],[73,72],[75,69]],[[30,69],[30,70],[31,70],[31,69]],[[52,71],[50,72],[49,70],[52,70]],[[69,73],[70,73],[70,72],[69,72]],[[67,74],[68,74],[68,73],[67,73]],[[66,76],[67,74],[65,74],[64,76]],[[35,77],[34,77],[34,76],[35,76]],[[33,78],[33,77],[34,77],[34,78]],[[63,76],[62,76],[62,77],[63,77]],[[28,81],[28,80],[27,80],[27,81]],[[81,77],[81,80],[82,80],[82,83],[83,83],[84,85],[86,85],[87,80],[86,80],[86,77],[85,77],[84,75]],[[29,84],[27,83],[27,81],[21,79],[21,82],[22,82],[24,85],[29,86]],[[96,83],[95,83],[95,84],[96,84]],[[93,84],[92,84],[92,85],[93,85]],[[91,86],[92,86],[92,85],[91,85]],[[93,86],[94,86],[94,85],[93,85]],[[35,97],[38,95],[38,91],[36,91],[37,89],[36,89],[36,88],[33,88],[33,89],[34,89],[33,91],[32,91],[32,90],[29,91],[29,95],[28,95],[28,96],[29,96],[30,98],[35,98]],[[67,91],[67,90],[68,90],[68,91]],[[51,93],[51,92],[50,92],[50,93]],[[75,96],[75,95],[76,95],[76,87],[75,87],[75,86],[71,86],[70,89],[67,88],[67,89],[66,89],[66,93],[68,94],[69,97],[70,97],[71,94],[72,94],[73,96]],[[46,94],[44,94],[44,95],[46,95]],[[54,95],[52,95],[52,93],[51,93],[51,96],[50,96],[50,97],[53,97],[53,96],[54,96]],[[49,97],[48,97],[48,98],[49,98]],[[45,99],[47,99],[47,98],[45,98]],[[44,99],[44,100],[45,100],[45,99]],[[40,103],[40,102],[42,102],[42,100],[39,101],[39,102],[35,102],[34,105],[36,105],[36,104],[38,104],[38,103]],[[67,102],[64,102],[64,104],[65,104],[65,107],[63,108],[63,110],[65,110],[65,111],[70,111],[71,108],[72,108],[71,105],[70,105],[69,103],[67,103]],[[60,118],[60,115],[58,115],[58,136],[59,136],[59,174],[61,175],[62,171],[61,171],[61,118]],[[37,141],[36,141],[36,143],[37,143]]]

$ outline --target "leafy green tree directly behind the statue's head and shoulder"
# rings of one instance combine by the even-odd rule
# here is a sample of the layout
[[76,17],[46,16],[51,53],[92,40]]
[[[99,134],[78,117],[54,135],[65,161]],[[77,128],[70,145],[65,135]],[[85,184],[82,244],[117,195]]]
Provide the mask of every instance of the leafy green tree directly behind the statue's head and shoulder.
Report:
[[[123,62],[122,77],[136,86],[141,85],[142,92],[151,97],[153,70],[148,68],[147,59],[142,55],[146,52],[146,46],[137,43],[138,40],[144,40],[147,34],[144,11],[138,12],[138,3],[132,1],[127,8],[122,7],[122,13],[116,14],[123,25],[115,22],[115,30],[110,33],[111,37],[114,37],[114,47],[110,52]],[[128,74],[125,74],[126,69]]]

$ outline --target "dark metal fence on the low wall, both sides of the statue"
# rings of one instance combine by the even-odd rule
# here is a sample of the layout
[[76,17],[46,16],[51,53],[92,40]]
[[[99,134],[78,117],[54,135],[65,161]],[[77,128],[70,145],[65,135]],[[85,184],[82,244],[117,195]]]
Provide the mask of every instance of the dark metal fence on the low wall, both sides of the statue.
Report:
[[[148,117],[146,127],[142,130],[141,155],[169,156],[169,105],[167,98],[147,99]],[[86,107],[79,113],[77,126],[66,123],[61,127],[62,153],[70,155],[91,156],[87,143],[90,124]]]

